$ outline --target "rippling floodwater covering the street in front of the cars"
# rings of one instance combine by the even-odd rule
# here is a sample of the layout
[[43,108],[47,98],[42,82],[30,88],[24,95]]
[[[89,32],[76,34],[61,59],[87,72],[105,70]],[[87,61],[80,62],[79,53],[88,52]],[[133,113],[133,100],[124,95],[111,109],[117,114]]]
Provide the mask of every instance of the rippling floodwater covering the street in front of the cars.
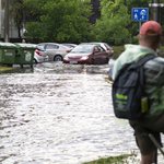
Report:
[[1,72],[0,164],[138,154],[132,129],[114,117],[109,67],[45,62]]

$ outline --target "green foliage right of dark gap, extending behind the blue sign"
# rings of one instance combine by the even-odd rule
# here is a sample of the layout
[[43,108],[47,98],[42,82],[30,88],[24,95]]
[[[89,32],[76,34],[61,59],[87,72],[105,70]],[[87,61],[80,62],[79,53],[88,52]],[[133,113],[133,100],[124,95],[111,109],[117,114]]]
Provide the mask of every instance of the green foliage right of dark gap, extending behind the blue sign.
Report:
[[[101,0],[101,19],[92,33],[96,40],[115,45],[138,44],[139,22],[131,21],[132,8],[149,8],[153,0]],[[151,10],[149,10],[151,12]],[[151,20],[151,14],[149,14]]]

